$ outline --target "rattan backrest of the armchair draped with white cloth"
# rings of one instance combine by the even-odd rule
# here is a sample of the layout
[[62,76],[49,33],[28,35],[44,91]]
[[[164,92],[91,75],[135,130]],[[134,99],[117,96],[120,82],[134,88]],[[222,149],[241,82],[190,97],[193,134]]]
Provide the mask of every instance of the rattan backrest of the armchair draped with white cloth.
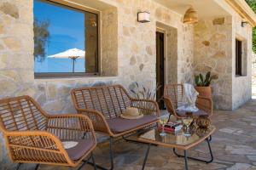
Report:
[[174,109],[183,104],[183,84],[167,84],[164,97],[170,98]]

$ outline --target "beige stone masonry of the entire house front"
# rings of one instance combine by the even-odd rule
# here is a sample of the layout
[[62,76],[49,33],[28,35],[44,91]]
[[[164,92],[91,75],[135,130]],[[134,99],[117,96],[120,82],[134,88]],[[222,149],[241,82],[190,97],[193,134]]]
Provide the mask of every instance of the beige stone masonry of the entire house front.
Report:
[[[240,78],[242,80],[232,76],[235,65],[232,50],[236,32],[245,37],[251,31],[250,26],[244,30],[239,27],[239,17],[236,16],[235,19],[232,15],[201,20],[198,25],[189,26],[181,21],[182,15],[155,3],[154,0],[130,0],[129,3],[127,0],[96,2],[108,7],[99,8],[102,12],[102,75],[37,79],[33,71],[33,1],[0,1],[0,99],[26,94],[36,99],[50,114],[75,113],[70,97],[72,88],[112,83],[120,83],[128,88],[133,82],[138,82],[146,88],[154,89],[157,26],[169,29],[166,46],[175,48],[167,52],[166,68],[173,71],[166,71],[166,82],[193,82],[195,72],[204,72],[211,67],[219,76],[218,81],[212,83],[213,99],[217,108],[233,109],[250,97],[249,87],[241,90],[241,94],[232,95],[237,88],[243,88],[242,81],[250,81],[249,69],[247,77]],[[140,10],[150,11],[151,22],[137,22],[137,12]],[[108,19],[109,22],[106,21]],[[170,41],[172,36],[175,36],[176,45]],[[251,37],[245,38],[248,66]],[[0,144],[0,165],[11,169],[8,167],[11,164],[2,134]]]

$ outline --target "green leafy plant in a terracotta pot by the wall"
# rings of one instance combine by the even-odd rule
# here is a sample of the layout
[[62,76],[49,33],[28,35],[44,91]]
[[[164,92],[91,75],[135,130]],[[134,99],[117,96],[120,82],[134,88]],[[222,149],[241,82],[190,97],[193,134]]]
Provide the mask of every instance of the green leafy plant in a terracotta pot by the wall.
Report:
[[211,75],[211,72],[208,71],[206,77],[200,73],[199,75],[195,75],[195,90],[199,93],[199,95],[211,98],[212,97],[212,89],[210,87],[212,80],[218,79],[217,75]]

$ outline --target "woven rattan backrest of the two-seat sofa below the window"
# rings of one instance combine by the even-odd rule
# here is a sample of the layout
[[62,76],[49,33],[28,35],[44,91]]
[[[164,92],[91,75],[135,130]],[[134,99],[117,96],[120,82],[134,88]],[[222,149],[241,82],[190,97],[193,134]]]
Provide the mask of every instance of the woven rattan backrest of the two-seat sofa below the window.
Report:
[[107,119],[119,116],[131,106],[129,95],[120,85],[76,88],[72,96],[76,108],[100,111]]

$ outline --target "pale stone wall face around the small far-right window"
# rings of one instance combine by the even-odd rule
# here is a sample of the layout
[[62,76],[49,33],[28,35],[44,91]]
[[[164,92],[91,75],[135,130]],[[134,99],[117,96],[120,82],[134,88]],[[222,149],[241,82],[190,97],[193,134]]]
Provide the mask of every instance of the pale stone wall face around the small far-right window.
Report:
[[[232,20],[232,109],[245,104],[252,98],[252,27],[241,26],[241,17],[234,14]],[[242,41],[243,76],[236,77],[236,38]]]

